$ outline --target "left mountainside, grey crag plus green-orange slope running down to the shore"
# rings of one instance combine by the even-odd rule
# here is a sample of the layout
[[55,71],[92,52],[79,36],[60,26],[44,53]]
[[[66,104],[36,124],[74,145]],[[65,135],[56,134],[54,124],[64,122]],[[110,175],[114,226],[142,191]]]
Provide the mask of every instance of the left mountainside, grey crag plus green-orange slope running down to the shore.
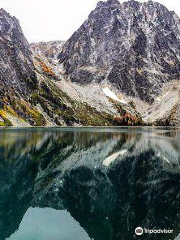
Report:
[[126,124],[142,121],[133,106],[122,107],[106,96],[97,108],[67,94],[57,59],[62,41],[30,45],[18,20],[3,9],[0,29],[0,126],[111,126],[118,113]]

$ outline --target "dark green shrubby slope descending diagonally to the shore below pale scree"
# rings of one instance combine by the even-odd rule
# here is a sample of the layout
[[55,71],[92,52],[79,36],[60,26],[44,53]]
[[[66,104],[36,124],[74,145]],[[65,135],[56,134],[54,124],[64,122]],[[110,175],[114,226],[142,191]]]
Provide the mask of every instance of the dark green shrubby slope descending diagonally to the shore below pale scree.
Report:
[[113,116],[98,112],[86,103],[72,100],[48,79],[46,82],[41,81],[39,92],[33,92],[30,101],[34,105],[39,103],[58,125],[61,125],[61,120],[70,126],[74,123],[83,126],[110,126],[113,124]]

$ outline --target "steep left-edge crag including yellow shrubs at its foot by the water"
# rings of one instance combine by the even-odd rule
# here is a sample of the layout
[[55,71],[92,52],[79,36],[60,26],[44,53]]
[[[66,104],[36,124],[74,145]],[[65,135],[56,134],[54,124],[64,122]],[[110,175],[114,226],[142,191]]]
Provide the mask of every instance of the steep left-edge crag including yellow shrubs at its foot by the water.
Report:
[[[38,81],[28,41],[19,21],[0,9],[0,126],[26,118],[25,102]],[[26,115],[26,116],[25,116]]]

